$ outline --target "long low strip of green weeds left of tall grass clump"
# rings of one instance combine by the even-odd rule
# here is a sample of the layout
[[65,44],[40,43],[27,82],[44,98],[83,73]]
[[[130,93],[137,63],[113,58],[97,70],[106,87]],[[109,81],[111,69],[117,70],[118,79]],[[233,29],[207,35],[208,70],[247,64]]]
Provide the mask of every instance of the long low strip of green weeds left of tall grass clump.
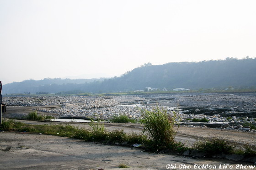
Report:
[[131,134],[126,134],[123,129],[108,132],[105,129],[104,124],[100,123],[99,121],[92,121],[90,126],[91,129],[78,128],[71,126],[70,124],[33,125],[15,122],[14,120],[9,119],[0,125],[0,130],[15,130],[18,132],[57,135],[62,137],[83,139],[85,141],[107,142],[109,144],[122,142],[127,142],[128,144],[143,144],[147,140],[147,137],[143,134],[137,134],[134,132]]

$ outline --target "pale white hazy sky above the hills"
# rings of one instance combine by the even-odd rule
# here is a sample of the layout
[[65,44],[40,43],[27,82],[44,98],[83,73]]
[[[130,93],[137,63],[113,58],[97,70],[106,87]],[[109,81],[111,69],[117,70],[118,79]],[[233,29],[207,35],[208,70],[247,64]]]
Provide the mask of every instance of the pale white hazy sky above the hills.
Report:
[[0,0],[3,84],[246,56],[256,0]]

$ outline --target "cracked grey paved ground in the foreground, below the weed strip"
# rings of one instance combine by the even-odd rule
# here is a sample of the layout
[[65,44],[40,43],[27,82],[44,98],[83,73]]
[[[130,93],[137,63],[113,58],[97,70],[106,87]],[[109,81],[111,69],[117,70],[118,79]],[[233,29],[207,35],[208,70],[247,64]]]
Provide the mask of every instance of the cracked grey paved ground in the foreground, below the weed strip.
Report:
[[0,136],[1,170],[115,170],[120,164],[130,166],[126,170],[152,170],[165,169],[168,164],[237,164],[229,160],[150,154],[140,149],[50,135],[1,132]]

